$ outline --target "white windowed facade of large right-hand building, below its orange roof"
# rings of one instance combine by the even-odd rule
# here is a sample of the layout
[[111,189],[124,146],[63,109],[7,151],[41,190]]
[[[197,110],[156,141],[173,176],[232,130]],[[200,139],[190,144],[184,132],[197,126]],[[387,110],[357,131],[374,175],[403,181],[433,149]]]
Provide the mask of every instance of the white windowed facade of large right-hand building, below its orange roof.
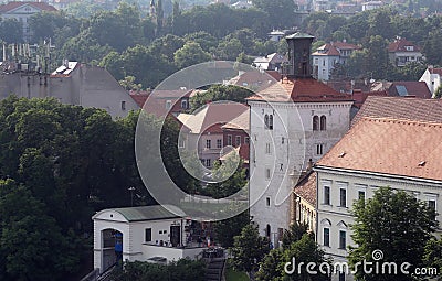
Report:
[[[436,212],[442,210],[442,182],[422,181],[419,179],[390,177],[376,174],[329,172],[317,167],[317,231],[318,245],[337,260],[345,261],[348,246],[355,246],[351,240],[349,226],[355,221],[350,215],[352,204],[359,198],[359,192],[365,193],[365,198],[371,198],[376,190],[390,186],[413,194],[418,199],[428,202],[436,201]],[[326,204],[325,186],[330,188],[330,204]],[[340,188],[346,190],[346,207],[340,206]],[[441,215],[438,220],[441,223]],[[324,229],[329,229],[329,246],[324,242]],[[346,249],[339,248],[339,231],[346,234]],[[382,249],[380,249],[382,250]]]

